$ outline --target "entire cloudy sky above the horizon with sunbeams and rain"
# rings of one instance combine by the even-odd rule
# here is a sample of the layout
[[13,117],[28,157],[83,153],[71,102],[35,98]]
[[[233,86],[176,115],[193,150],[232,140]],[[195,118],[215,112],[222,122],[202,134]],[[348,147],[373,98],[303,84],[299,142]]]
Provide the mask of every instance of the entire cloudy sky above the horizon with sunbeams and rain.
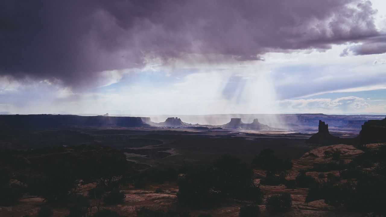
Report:
[[2,0],[1,111],[386,114],[386,2]]

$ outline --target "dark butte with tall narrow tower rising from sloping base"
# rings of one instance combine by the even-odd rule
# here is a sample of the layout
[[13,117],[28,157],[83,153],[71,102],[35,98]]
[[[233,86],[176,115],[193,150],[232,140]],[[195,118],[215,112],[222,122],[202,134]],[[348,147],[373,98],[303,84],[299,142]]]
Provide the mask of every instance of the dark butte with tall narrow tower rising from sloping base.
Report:
[[328,124],[325,124],[324,121],[319,120],[318,132],[307,139],[305,143],[308,146],[319,147],[337,144],[338,142],[339,137],[332,136],[328,131]]

